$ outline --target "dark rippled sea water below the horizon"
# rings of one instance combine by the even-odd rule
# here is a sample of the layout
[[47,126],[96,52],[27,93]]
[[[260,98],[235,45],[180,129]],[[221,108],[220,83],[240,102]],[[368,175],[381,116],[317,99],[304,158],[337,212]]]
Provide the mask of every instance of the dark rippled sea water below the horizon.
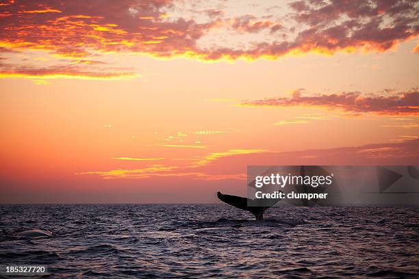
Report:
[[0,263],[47,264],[51,278],[419,278],[419,209],[266,215],[281,221],[220,204],[2,205],[0,228],[54,235],[0,237]]

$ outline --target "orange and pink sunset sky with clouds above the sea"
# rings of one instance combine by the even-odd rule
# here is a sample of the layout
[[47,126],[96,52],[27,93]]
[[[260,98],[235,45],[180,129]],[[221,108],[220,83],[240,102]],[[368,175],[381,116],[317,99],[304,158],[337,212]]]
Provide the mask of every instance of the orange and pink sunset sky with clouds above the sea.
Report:
[[418,165],[419,1],[0,0],[0,202],[216,202]]

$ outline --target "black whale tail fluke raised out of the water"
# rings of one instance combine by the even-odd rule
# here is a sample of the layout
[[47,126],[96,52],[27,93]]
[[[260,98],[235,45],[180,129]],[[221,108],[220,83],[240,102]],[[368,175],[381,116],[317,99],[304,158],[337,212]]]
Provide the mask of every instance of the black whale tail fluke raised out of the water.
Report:
[[[268,206],[258,207],[256,200],[251,200],[250,198],[243,198],[239,196],[232,196],[232,195],[225,195],[222,194],[220,191],[217,193],[217,197],[233,207],[237,207],[238,209],[242,209],[245,211],[249,211],[253,215],[255,215],[257,221],[264,220],[264,212],[266,209],[274,206],[279,202],[281,199],[270,199],[268,202]],[[266,204],[266,202],[265,202]],[[254,206],[253,206],[254,205]]]

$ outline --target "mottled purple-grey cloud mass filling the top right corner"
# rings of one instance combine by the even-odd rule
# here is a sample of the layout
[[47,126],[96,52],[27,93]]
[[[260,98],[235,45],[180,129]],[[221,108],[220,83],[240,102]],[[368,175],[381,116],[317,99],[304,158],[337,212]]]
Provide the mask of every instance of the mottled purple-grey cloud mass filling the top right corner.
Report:
[[316,44],[320,49],[386,51],[401,40],[414,38],[419,31],[415,1],[355,0],[322,5],[296,1],[290,5],[297,11],[295,20],[309,25],[297,41]]

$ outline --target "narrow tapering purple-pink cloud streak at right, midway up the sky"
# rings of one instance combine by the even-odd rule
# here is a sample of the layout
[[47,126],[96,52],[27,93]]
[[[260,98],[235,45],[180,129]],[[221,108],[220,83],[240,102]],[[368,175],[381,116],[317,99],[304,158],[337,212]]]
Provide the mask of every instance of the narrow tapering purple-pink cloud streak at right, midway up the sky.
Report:
[[341,92],[303,96],[303,90],[296,90],[291,97],[266,98],[244,101],[240,105],[250,107],[324,107],[355,113],[383,115],[419,115],[419,92],[412,89],[385,95],[364,95],[361,92]]

